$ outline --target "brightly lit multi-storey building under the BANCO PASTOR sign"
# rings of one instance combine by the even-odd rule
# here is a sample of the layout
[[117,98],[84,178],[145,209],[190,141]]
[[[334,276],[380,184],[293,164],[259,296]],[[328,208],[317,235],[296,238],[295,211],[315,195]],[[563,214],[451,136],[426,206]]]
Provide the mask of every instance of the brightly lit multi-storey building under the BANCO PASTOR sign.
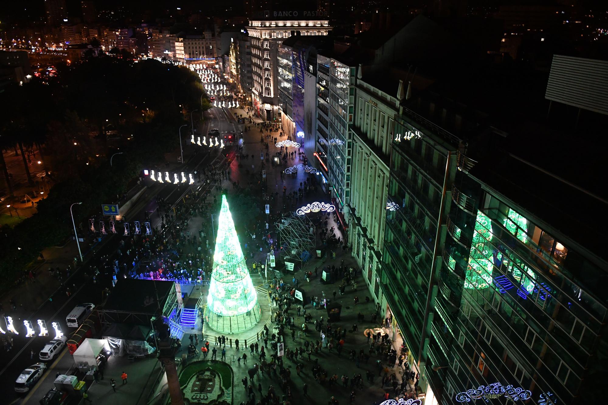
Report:
[[[283,15],[283,14],[282,14]],[[253,75],[252,97],[256,113],[264,120],[278,118],[278,46],[295,35],[327,35],[332,27],[328,20],[298,19],[299,12],[285,13],[289,19],[269,12],[265,19],[251,20],[247,27],[251,46]]]

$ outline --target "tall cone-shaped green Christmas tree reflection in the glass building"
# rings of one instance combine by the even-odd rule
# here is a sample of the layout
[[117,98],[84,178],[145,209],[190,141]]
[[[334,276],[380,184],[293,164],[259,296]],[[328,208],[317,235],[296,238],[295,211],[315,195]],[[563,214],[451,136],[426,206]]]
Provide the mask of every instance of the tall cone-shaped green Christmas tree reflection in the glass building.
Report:
[[466,269],[465,288],[484,289],[492,285],[492,224],[488,216],[477,210],[475,230]]

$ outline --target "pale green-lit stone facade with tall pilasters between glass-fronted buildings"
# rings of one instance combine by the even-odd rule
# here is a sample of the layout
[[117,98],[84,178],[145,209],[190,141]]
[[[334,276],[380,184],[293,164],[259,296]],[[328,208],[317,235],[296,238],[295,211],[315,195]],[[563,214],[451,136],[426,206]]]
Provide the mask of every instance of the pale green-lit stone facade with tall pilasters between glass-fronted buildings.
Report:
[[[356,79],[348,241],[373,299],[379,302],[390,150],[402,83],[366,74]],[[372,84],[373,83],[373,84]]]

